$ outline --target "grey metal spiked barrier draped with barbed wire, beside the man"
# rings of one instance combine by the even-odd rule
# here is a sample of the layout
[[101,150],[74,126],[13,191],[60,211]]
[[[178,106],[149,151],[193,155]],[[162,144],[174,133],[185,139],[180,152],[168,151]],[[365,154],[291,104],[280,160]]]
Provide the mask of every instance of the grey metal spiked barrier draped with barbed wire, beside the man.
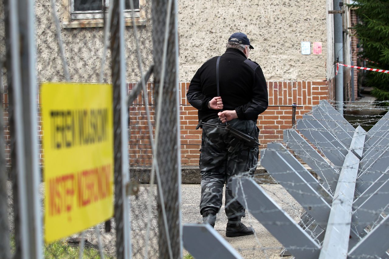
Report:
[[[371,107],[374,105],[344,107],[354,113],[367,107],[386,112],[379,106]],[[327,101],[321,101],[296,123],[296,128],[284,131],[287,147],[282,143],[268,143],[261,151],[261,165],[293,199],[289,200],[285,195],[280,199],[279,195],[269,191],[276,188],[259,185],[261,181],[255,177],[233,179],[234,196],[249,215],[258,219],[284,247],[280,256],[322,259],[389,257],[389,241],[384,238],[389,208],[389,167],[384,163],[387,147],[379,145],[385,142],[385,138],[377,141],[383,134],[374,132],[385,129],[387,116],[380,115],[368,122],[377,122],[378,126],[365,130],[358,125],[363,125],[362,120],[356,120],[352,125],[339,117]],[[370,162],[364,163],[368,159]],[[302,160],[307,165],[302,165]],[[283,203],[282,199],[298,203],[303,212],[300,222],[290,216],[293,212],[277,204]],[[189,232],[185,231],[189,226],[193,227],[184,226],[187,240]],[[200,230],[200,226],[196,229]],[[208,232],[191,236],[190,240],[203,238],[202,242],[212,243],[214,250],[225,247],[222,242],[215,243],[215,238]],[[251,244],[256,240],[258,245],[262,241],[258,233],[255,237],[242,239]],[[245,252],[242,244],[237,246],[233,240],[229,241],[239,252]],[[196,250],[193,243],[184,242],[184,245],[194,251],[196,258],[207,256],[206,249],[202,251],[197,247]],[[259,257],[257,250],[262,250],[264,255],[261,258],[273,258],[275,254],[270,254],[270,251],[275,248],[260,246],[253,248],[251,254],[245,254],[247,258],[253,258],[254,254]]]

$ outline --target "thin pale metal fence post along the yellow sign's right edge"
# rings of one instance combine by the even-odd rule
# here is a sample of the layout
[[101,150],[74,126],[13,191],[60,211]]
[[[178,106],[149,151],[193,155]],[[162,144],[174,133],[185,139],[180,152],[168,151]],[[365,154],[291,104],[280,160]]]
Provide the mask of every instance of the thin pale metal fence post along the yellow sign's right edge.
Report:
[[126,65],[124,56],[124,0],[112,1],[111,51],[112,85],[114,96],[114,184],[116,253],[118,259],[131,258],[130,202],[126,195],[129,181],[128,165],[128,107],[125,83]]

